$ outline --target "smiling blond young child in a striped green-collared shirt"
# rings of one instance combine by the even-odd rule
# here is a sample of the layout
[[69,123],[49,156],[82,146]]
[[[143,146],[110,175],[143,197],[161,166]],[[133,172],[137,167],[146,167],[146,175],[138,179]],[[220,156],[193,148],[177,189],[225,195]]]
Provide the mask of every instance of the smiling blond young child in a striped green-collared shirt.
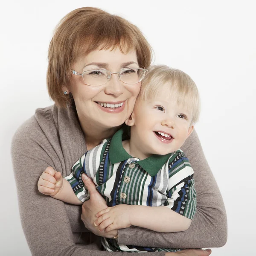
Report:
[[[55,188],[49,186],[45,194],[82,204],[89,199],[81,180],[85,173],[108,205],[96,215],[100,231],[131,225],[158,232],[188,229],[195,215],[196,192],[193,170],[179,148],[193,131],[199,105],[197,87],[186,73],[152,66],[125,122],[131,127],[131,138],[125,140],[124,128],[120,129],[87,151],[65,179],[60,172],[52,174],[54,183],[48,181]],[[102,244],[108,251],[178,250],[117,244],[106,238]]]

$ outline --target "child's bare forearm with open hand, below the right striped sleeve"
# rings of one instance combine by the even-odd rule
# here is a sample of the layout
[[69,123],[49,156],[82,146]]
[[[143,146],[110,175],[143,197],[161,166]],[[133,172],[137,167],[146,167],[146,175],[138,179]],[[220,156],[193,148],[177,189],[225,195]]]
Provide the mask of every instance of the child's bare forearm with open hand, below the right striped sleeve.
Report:
[[133,225],[169,233],[187,230],[191,224],[191,219],[165,206],[119,204],[98,212],[96,217],[99,218],[95,225],[99,225],[99,231],[105,229],[105,232]]

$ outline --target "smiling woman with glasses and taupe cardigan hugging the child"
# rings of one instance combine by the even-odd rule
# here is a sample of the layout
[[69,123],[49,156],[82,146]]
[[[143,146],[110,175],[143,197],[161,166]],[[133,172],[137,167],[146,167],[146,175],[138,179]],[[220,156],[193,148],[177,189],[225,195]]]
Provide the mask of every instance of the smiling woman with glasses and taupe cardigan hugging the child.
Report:
[[[143,68],[150,63],[148,42],[136,26],[121,17],[96,8],[80,8],[61,20],[49,46],[47,73],[49,95],[55,105],[36,110],[18,129],[12,143],[21,221],[32,255],[102,255],[97,251],[97,243],[93,243],[99,239],[88,230],[99,236],[116,237],[122,244],[144,247],[200,248],[225,244],[224,204],[195,132],[183,146],[195,170],[198,193],[197,213],[186,232],[155,233],[130,227],[111,234],[99,233],[93,225],[95,214],[106,206],[90,180],[85,182],[91,199],[83,204],[82,216],[81,207],[37,191],[44,169],[52,166],[67,176],[86,150],[111,137],[122,125],[132,112],[140,82],[125,84],[118,73],[126,67]],[[84,84],[81,74],[99,69],[111,71],[110,80],[102,85]],[[106,108],[100,103],[122,106]],[[209,253],[183,250],[175,255]]]

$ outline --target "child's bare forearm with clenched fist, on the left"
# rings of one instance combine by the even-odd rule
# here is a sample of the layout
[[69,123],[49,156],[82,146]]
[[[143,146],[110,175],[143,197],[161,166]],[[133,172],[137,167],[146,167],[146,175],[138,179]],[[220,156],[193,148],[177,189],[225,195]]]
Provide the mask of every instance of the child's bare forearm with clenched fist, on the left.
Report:
[[38,180],[38,190],[44,195],[64,201],[69,204],[82,204],[73,192],[70,183],[65,180],[60,172],[48,167]]

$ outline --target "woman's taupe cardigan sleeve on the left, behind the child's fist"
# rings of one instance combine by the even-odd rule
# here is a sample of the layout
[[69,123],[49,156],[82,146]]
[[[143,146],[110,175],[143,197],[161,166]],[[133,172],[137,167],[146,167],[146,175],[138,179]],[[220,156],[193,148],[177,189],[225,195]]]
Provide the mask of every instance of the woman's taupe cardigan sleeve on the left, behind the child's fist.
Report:
[[[12,163],[17,186],[20,219],[34,256],[114,256],[92,245],[76,244],[65,204],[38,192],[42,172],[52,166],[62,172],[63,158],[56,155],[35,118],[18,129],[12,140]],[[137,253],[131,253],[136,255]],[[155,253],[160,256],[164,253]]]

